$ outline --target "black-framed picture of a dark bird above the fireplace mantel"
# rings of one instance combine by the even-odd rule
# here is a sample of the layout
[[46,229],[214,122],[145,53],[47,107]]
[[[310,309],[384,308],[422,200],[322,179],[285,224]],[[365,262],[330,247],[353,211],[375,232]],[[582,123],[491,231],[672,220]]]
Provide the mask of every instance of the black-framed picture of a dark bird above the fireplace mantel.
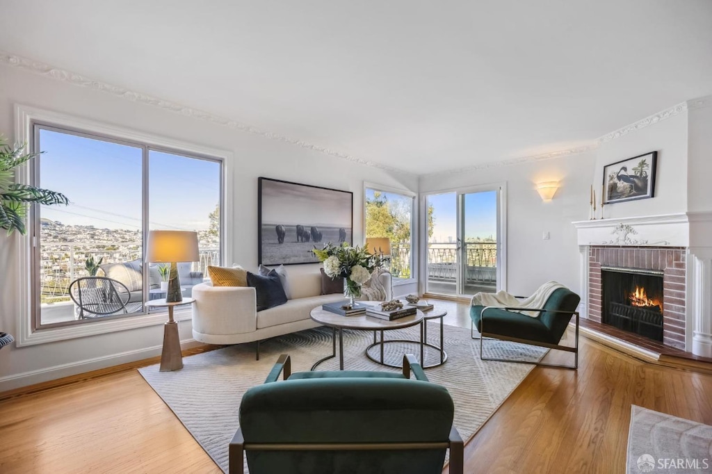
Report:
[[655,196],[658,152],[639,154],[603,167],[603,204]]

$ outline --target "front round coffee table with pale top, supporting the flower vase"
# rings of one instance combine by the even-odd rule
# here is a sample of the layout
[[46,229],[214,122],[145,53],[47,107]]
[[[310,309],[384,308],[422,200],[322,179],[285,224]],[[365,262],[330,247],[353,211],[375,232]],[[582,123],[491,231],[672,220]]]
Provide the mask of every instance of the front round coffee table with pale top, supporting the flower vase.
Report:
[[[377,304],[377,303],[375,303]],[[372,316],[367,316],[365,313],[362,313],[360,315],[354,315],[354,316],[342,316],[342,315],[337,315],[336,313],[330,312],[323,310],[320,306],[315,307],[313,310],[311,310],[310,317],[312,320],[315,322],[318,322],[320,325],[325,325],[328,327],[331,327],[333,332],[332,332],[332,354],[330,356],[324,357],[323,359],[318,360],[315,362],[315,364],[312,366],[312,370],[316,369],[316,367],[324,362],[325,360],[328,359],[333,359],[336,357],[336,332],[339,332],[339,369],[343,370],[344,369],[344,339],[343,339],[343,330],[345,329],[352,329],[352,330],[358,330],[358,331],[373,331],[373,342],[376,343],[376,332],[381,333],[381,340],[383,340],[383,332],[384,331],[389,331],[389,330],[396,330],[396,329],[402,329],[404,327],[411,327],[415,325],[421,325],[420,327],[420,340],[421,343],[423,342],[423,317],[424,314],[421,310],[418,310],[414,315],[412,316],[406,316],[406,317],[401,317],[397,320],[393,321],[387,321],[387,320],[380,320],[377,317],[372,317]],[[372,347],[373,344],[369,346]],[[368,350],[368,349],[366,349]],[[422,352],[422,351],[421,351]],[[368,355],[368,352],[366,353]],[[422,354],[421,354],[422,356]],[[372,359],[372,357],[368,356],[369,359]],[[373,359],[372,359],[373,360]],[[379,361],[376,361],[379,362]],[[383,346],[381,346],[381,360],[379,364],[384,364],[383,363]],[[386,365],[386,364],[384,364]]]

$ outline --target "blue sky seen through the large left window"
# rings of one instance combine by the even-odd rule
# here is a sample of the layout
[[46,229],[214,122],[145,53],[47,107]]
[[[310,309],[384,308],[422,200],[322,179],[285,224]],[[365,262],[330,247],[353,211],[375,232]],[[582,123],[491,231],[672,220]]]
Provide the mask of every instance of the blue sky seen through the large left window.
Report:
[[[142,213],[139,147],[41,130],[39,186],[65,194],[69,206],[43,206],[64,224],[138,230]],[[216,162],[149,152],[150,228],[201,230],[219,201]]]

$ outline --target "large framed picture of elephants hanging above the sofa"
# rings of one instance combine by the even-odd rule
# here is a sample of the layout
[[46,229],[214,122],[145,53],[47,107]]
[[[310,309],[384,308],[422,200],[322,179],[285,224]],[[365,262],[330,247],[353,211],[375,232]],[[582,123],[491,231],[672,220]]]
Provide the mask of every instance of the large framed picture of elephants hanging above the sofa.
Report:
[[258,179],[258,263],[317,263],[313,248],[352,243],[353,193]]

